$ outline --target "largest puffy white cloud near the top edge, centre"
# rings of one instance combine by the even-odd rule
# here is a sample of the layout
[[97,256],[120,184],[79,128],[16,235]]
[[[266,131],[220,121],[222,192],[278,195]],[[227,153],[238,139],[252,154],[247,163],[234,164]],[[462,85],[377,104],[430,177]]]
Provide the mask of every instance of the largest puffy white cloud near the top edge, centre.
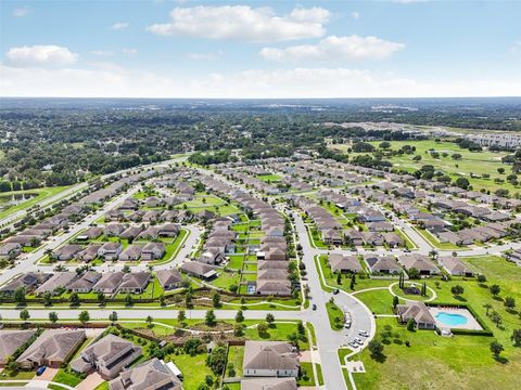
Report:
[[169,23],[154,24],[147,29],[161,36],[272,42],[321,37],[330,15],[322,8],[294,9],[279,16],[270,8],[200,5],[176,8],[170,12]]

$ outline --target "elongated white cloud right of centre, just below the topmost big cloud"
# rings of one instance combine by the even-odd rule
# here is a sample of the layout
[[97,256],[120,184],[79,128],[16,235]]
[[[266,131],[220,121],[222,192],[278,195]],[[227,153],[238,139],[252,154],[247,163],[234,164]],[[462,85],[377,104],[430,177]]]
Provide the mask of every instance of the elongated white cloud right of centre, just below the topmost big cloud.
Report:
[[264,48],[259,54],[266,60],[278,62],[382,60],[404,48],[404,43],[353,35],[348,37],[330,36],[317,44],[300,44],[285,49]]

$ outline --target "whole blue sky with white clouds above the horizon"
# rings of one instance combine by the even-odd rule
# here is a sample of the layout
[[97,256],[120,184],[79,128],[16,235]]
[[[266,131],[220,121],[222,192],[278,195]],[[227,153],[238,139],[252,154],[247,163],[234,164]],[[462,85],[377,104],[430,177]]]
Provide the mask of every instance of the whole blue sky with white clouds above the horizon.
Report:
[[521,0],[0,0],[0,95],[521,95]]

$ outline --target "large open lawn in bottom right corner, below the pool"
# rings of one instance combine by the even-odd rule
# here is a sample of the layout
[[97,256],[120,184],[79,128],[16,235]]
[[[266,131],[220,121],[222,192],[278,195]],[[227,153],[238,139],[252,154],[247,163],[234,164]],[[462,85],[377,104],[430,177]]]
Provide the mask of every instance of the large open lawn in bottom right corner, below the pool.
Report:
[[[509,363],[496,362],[488,350],[491,338],[444,338],[433,332],[410,333],[393,318],[377,318],[378,328],[391,326],[384,359],[361,353],[366,374],[355,374],[358,388],[373,389],[518,389],[521,351],[509,354]],[[378,338],[378,337],[377,337]],[[405,346],[409,341],[410,347]]]

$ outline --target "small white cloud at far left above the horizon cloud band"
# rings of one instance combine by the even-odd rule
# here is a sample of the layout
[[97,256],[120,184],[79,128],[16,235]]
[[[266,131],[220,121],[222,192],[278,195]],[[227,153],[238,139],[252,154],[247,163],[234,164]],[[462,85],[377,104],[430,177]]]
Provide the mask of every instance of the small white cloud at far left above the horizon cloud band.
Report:
[[78,61],[78,54],[54,44],[11,48],[7,63],[14,67],[64,67]]

